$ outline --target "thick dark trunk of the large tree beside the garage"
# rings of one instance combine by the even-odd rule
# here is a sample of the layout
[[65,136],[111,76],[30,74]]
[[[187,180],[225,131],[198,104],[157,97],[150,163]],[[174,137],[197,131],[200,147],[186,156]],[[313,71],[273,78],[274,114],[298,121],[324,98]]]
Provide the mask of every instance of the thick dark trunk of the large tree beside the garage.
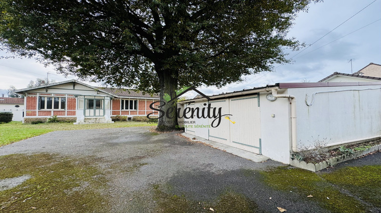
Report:
[[178,73],[172,70],[162,70],[158,74],[160,81],[160,107],[159,119],[157,123],[157,130],[173,130],[178,127],[177,123],[177,98],[167,102],[164,99],[165,94],[169,94],[171,99],[176,96],[176,89],[178,84]]

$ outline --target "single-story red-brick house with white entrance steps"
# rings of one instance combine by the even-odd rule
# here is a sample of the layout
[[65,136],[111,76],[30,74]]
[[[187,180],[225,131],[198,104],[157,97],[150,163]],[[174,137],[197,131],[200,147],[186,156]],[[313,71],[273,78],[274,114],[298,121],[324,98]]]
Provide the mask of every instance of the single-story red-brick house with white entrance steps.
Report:
[[150,109],[150,104],[160,100],[157,95],[93,87],[76,80],[19,89],[16,92],[25,98],[23,122],[57,116],[60,120],[73,121],[75,124],[111,123],[112,116],[132,118],[154,113],[156,111]]

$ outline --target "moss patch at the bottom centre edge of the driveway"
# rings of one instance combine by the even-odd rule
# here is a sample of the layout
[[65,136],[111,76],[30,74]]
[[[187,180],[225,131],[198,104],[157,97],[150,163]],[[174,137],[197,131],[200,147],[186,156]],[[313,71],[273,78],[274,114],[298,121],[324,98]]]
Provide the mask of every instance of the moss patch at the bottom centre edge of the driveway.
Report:
[[154,200],[157,203],[156,212],[226,212],[255,213],[259,212],[257,204],[242,194],[227,191],[220,194],[216,200],[196,201],[187,199],[184,195],[171,195],[162,191],[160,185],[154,185]]

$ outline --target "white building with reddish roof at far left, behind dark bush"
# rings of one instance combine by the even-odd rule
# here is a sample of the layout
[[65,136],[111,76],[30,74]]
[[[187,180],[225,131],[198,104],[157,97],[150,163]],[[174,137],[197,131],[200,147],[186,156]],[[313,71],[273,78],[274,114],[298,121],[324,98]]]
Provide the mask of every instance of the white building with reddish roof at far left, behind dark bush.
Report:
[[22,121],[24,98],[0,97],[0,112],[13,113],[12,121]]

